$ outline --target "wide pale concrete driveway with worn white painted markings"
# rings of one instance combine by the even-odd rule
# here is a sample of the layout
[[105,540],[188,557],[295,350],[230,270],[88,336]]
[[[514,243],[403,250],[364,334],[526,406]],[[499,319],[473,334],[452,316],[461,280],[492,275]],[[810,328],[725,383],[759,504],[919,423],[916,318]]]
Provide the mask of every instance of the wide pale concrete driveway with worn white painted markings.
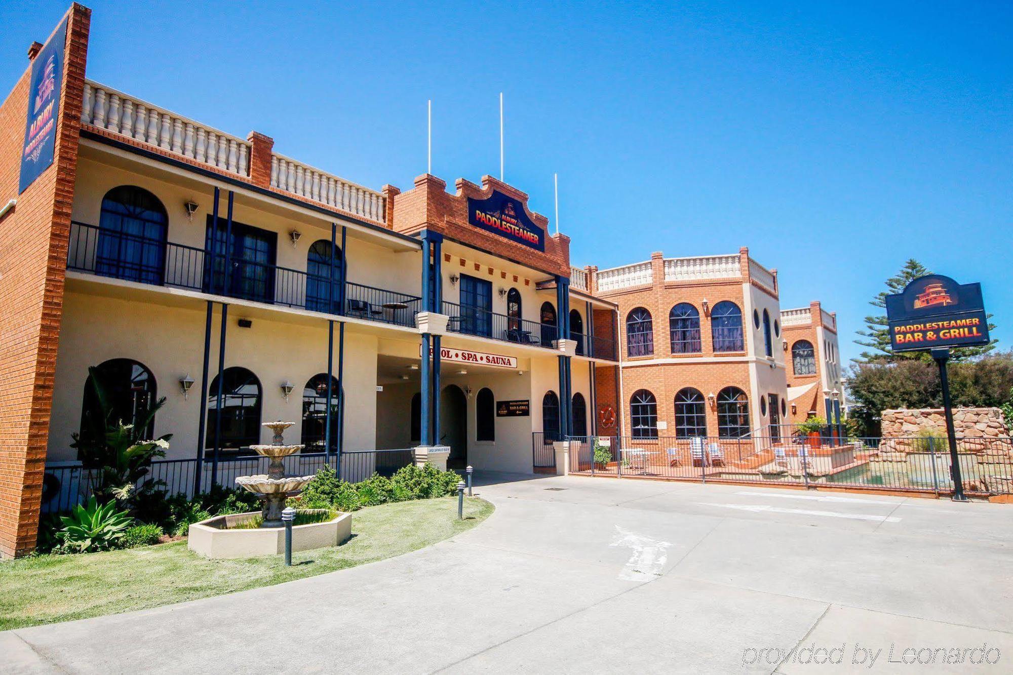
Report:
[[1013,506],[484,478],[448,541],[0,633],[0,671],[1013,672]]

